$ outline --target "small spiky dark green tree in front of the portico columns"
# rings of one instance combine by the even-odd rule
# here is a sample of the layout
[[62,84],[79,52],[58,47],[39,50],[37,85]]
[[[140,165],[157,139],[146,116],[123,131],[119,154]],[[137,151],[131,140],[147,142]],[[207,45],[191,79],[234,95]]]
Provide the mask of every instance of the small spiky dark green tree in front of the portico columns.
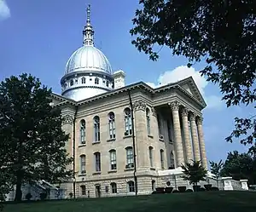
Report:
[[194,186],[201,180],[206,180],[207,169],[201,165],[201,161],[194,161],[192,163],[185,163],[182,165],[183,179],[189,180],[190,184]]

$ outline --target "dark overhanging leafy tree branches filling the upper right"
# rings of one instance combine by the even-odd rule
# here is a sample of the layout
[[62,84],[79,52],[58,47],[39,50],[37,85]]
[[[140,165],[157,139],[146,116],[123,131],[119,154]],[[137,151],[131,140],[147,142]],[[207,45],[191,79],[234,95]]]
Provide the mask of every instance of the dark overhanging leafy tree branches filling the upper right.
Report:
[[[201,75],[218,83],[226,105],[249,105],[256,100],[256,3],[252,0],[140,0],[131,42],[139,51],[159,58],[156,49],[166,46],[172,54],[188,58],[188,66],[205,61]],[[158,48],[158,49],[159,49]],[[216,67],[216,68],[213,68]],[[235,118],[236,129],[226,138],[245,137],[253,144],[256,120]],[[247,135],[252,130],[253,133]]]

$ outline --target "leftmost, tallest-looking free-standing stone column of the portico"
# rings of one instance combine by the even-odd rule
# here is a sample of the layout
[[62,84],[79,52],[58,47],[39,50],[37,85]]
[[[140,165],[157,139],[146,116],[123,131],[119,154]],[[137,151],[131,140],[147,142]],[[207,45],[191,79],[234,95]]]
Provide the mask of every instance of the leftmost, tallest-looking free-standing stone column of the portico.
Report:
[[181,164],[184,163],[184,156],[183,156],[183,141],[181,136],[179,114],[178,114],[179,103],[177,101],[174,101],[170,104],[170,106],[172,108],[174,143],[176,147],[177,166],[180,166]]

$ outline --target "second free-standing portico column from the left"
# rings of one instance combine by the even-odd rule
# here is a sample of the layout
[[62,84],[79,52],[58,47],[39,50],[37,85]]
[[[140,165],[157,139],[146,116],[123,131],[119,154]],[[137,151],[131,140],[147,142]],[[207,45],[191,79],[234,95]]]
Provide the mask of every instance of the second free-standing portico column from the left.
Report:
[[185,154],[186,154],[186,162],[190,163],[193,160],[192,146],[190,142],[189,136],[189,119],[188,119],[188,110],[183,107],[182,109],[182,120],[183,120],[183,133],[184,133],[184,141],[185,141]]

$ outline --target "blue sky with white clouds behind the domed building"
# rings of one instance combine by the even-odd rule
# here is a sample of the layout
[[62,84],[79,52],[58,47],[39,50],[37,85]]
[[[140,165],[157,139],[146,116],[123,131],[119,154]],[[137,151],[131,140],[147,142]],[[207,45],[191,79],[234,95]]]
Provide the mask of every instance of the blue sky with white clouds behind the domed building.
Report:
[[[148,60],[131,45],[131,19],[138,0],[0,0],[0,80],[29,72],[60,93],[60,79],[74,50],[82,45],[86,6],[91,3],[95,43],[108,57],[113,71],[122,69],[126,83],[143,80],[152,86],[177,81],[192,75],[208,107],[204,109],[204,131],[208,160],[226,158],[229,151],[244,152],[246,146],[227,143],[224,138],[233,129],[233,117],[250,116],[245,107],[226,108],[220,101],[218,87],[199,77],[198,70],[185,67],[187,60],[172,56],[163,48],[160,60]],[[174,70],[174,71],[173,71]]]

